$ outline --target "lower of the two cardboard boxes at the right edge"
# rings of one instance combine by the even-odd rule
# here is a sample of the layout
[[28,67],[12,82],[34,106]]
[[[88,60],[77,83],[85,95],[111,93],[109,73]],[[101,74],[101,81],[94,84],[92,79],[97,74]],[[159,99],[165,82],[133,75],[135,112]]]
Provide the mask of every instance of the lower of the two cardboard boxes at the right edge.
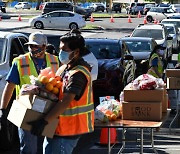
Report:
[[180,89],[180,77],[168,77],[167,78],[167,89]]

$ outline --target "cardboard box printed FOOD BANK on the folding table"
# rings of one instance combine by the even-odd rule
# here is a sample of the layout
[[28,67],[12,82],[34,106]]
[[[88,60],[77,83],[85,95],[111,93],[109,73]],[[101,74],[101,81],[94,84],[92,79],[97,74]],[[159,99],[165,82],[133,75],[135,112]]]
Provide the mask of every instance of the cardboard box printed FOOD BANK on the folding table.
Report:
[[123,102],[123,120],[160,121],[161,102]]

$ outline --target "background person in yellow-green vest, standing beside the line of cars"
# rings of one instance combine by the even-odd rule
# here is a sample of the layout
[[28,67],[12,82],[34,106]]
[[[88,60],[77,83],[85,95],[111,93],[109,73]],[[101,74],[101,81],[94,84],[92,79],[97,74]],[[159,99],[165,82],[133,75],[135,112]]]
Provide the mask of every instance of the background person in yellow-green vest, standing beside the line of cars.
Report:
[[148,74],[156,77],[162,78],[163,77],[163,61],[161,57],[164,55],[164,47],[160,45],[156,45],[153,52],[150,55],[149,59],[149,70]]

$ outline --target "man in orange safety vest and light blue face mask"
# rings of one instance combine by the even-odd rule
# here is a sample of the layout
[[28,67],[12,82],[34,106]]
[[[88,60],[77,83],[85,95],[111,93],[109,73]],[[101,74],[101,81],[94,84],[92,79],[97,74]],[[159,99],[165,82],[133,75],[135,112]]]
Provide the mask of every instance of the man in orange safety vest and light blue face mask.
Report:
[[50,121],[59,118],[54,137],[44,139],[44,154],[71,154],[79,138],[94,131],[91,67],[82,58],[84,38],[79,30],[72,30],[60,38],[59,48],[63,64],[56,72],[62,78],[60,101],[45,117],[32,122],[32,131],[39,135]]

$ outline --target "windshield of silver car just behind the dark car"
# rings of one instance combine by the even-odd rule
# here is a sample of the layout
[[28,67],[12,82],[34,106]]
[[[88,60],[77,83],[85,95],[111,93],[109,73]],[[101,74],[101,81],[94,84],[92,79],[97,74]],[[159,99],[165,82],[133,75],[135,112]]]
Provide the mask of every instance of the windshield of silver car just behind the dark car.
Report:
[[130,52],[151,52],[150,42],[141,41],[125,41]]

